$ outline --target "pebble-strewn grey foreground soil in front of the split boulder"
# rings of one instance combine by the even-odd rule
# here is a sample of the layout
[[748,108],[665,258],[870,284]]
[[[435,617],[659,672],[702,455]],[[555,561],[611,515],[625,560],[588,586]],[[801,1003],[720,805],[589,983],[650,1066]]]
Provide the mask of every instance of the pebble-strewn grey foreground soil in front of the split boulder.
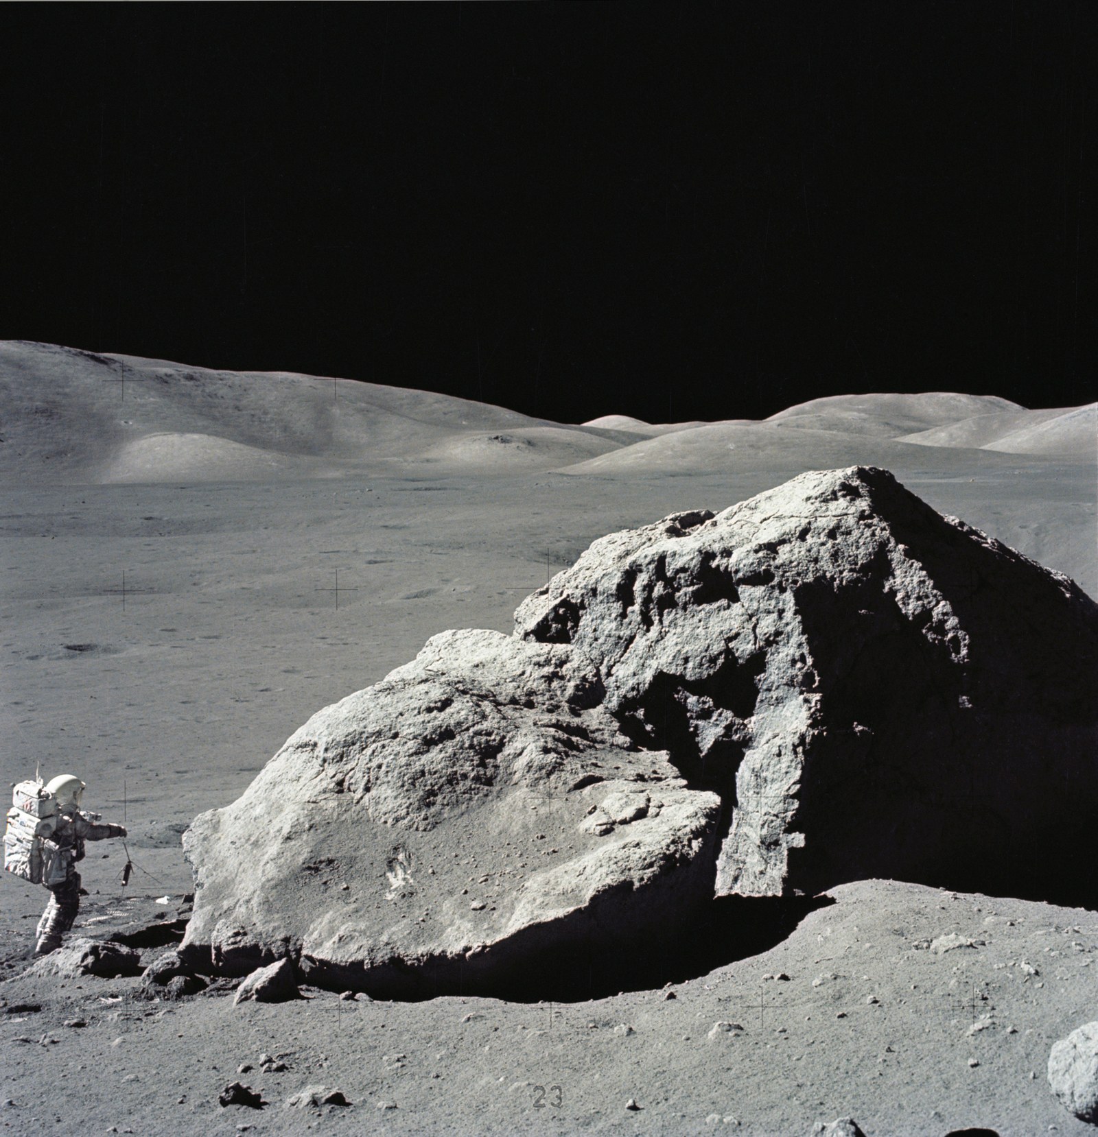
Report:
[[[1095,913],[889,881],[833,895],[774,949],[675,982],[674,999],[347,1003],[306,988],[234,1006],[224,993],[142,1002],[137,980],[13,979],[0,1093],[15,1104],[0,1118],[28,1135],[785,1135],[847,1114],[868,1135],[1092,1131],[1056,1103],[1045,1068],[1093,1018]],[[116,911],[91,899],[89,914]],[[977,946],[930,948],[949,933]],[[742,1029],[711,1038],[718,1022]],[[264,1053],[288,1069],[237,1073]],[[270,1104],[221,1107],[237,1079]],[[58,1084],[67,1093],[47,1107],[41,1088]],[[352,1106],[284,1105],[316,1084]]]

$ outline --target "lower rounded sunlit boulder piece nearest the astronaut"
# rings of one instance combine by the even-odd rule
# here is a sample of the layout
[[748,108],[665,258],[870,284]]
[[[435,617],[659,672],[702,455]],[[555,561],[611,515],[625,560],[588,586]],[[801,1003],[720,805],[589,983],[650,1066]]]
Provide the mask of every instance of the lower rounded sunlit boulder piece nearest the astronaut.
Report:
[[569,647],[436,636],[196,819],[181,953],[429,997],[672,938],[712,896],[721,803],[601,700]]

